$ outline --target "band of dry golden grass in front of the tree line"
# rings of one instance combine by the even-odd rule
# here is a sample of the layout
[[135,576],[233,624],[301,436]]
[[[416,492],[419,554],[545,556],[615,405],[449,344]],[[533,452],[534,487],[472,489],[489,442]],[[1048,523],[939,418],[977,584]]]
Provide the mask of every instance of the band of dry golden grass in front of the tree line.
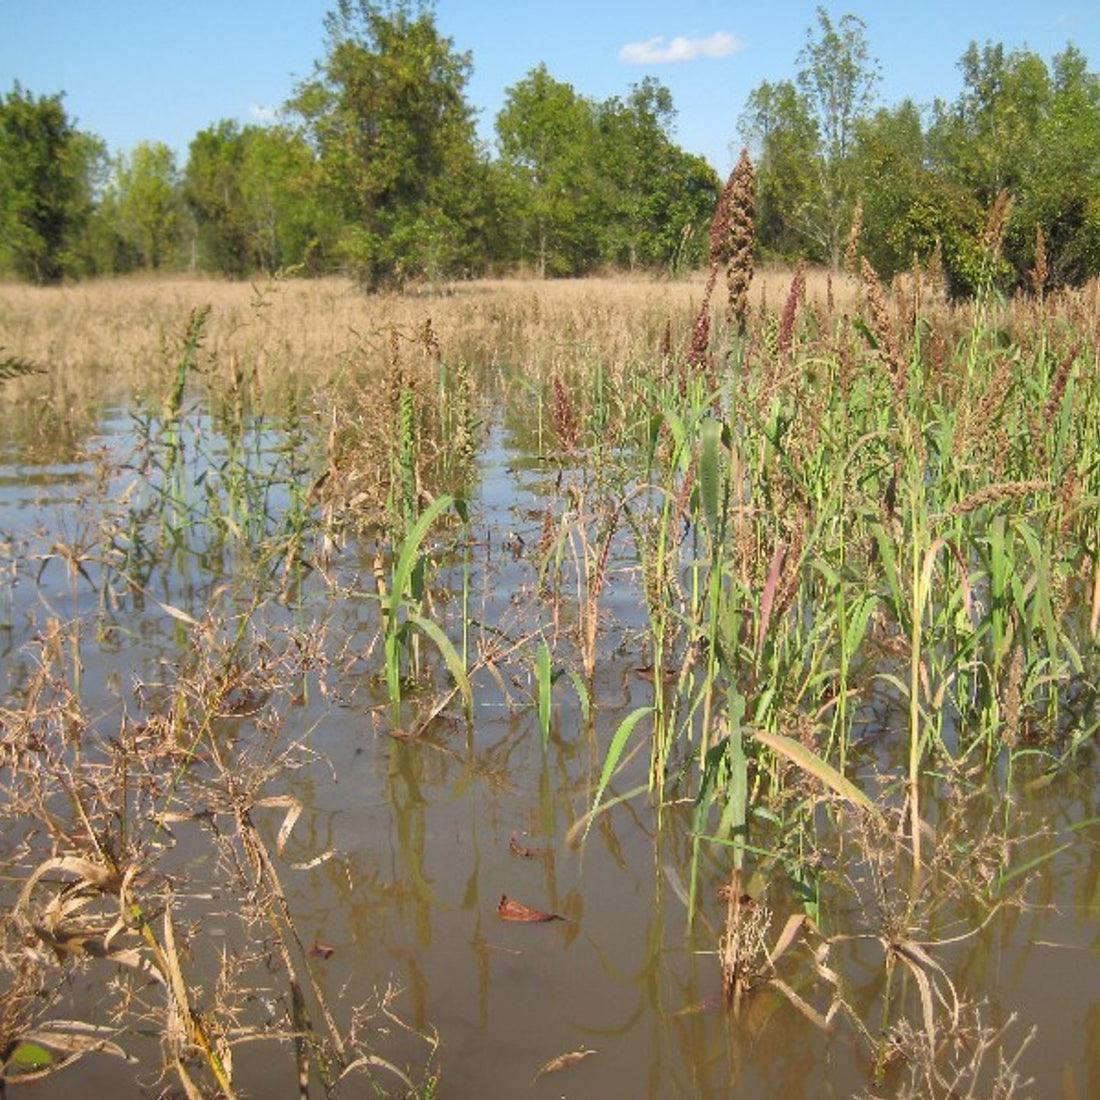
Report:
[[[759,272],[755,302],[779,308],[791,273]],[[827,276],[811,272],[806,298],[824,305]],[[542,282],[482,279],[446,294],[364,296],[345,279],[230,283],[138,276],[40,288],[0,285],[0,349],[51,373],[94,371],[96,385],[125,389],[173,362],[173,341],[193,309],[211,306],[206,361],[331,376],[349,355],[385,349],[389,332],[430,319],[449,358],[486,356],[513,367],[575,370],[582,360],[627,369],[652,354],[666,324],[685,346],[704,275],[679,279],[614,276]],[[854,284],[835,280],[838,305]]]

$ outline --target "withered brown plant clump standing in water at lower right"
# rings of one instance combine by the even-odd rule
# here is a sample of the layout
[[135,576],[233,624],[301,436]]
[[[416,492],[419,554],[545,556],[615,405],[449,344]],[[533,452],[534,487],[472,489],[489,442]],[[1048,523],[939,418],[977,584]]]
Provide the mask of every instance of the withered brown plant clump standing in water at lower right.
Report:
[[[974,827],[968,802],[953,804],[934,843],[925,846],[916,892],[906,873],[913,864],[906,813],[840,814],[853,831],[853,853],[845,858],[848,869],[840,886],[860,916],[853,921],[849,911],[828,906],[826,920],[837,925],[832,932],[804,912],[793,913],[772,942],[773,913],[762,897],[762,877],[745,879],[735,870],[721,891],[725,921],[718,945],[730,1011],[740,1014],[770,991],[818,1028],[846,1021],[873,1062],[876,1084],[860,1093],[867,1100],[880,1094],[943,1100],[1018,1096],[1030,1084],[1018,1067],[1035,1028],[1010,1049],[1007,1033],[1015,1018],[990,1026],[983,1007],[957,988],[945,958],[952,948],[979,936],[1008,903],[999,897],[1010,877],[1002,872],[1004,837],[989,826],[971,832],[970,843],[959,840],[967,835],[960,832],[964,820]],[[1026,871],[1022,869],[1016,880]],[[941,923],[939,915],[958,912],[967,899],[974,899],[981,914],[978,923],[930,939],[928,930]],[[853,931],[860,920],[869,925],[867,932]],[[881,952],[872,993],[860,988],[866,977],[858,976],[866,963],[853,954],[861,944],[875,944]],[[872,1026],[873,1001],[879,1002],[880,1019]]]

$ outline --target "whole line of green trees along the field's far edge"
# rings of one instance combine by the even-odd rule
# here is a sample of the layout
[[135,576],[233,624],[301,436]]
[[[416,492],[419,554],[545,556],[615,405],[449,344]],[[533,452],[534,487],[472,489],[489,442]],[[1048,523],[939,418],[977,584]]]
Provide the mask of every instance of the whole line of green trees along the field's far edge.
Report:
[[[62,95],[0,96],[0,274],[342,272],[366,288],[512,270],[674,271],[705,262],[722,180],[674,136],[647,77],[596,100],[540,65],[508,88],[495,147],[466,98],[469,53],[431,0],[339,0],[326,51],[276,125],[217,122],[186,163],[156,141],[110,154]],[[1100,77],[972,44],[953,101],[878,102],[866,26],[818,9],[793,79],[748,97],[763,258],[886,277],[938,264],[956,293],[1100,274]],[[990,271],[992,216],[1007,222]]]

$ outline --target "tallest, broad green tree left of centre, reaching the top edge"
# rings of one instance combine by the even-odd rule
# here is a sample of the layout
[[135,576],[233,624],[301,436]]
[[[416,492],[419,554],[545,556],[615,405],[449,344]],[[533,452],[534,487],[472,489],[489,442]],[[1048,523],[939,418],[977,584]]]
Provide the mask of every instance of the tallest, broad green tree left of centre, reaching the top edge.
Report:
[[344,220],[344,261],[367,287],[468,268],[484,182],[470,55],[440,35],[428,0],[341,0],[326,30],[324,59],[287,106]]

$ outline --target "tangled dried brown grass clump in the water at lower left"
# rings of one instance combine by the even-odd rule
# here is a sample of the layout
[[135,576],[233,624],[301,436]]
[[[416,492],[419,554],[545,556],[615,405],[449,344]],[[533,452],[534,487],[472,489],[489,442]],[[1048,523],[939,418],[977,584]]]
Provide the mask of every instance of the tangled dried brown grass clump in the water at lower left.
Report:
[[[180,1096],[231,1098],[245,1071],[234,1049],[257,1042],[292,1048],[307,1085],[382,1069],[414,1090],[338,1025],[282,882],[336,856],[307,845],[289,858],[306,807],[273,790],[317,762],[279,735],[304,674],[326,669],[323,627],[260,637],[239,629],[240,610],[229,597],[201,622],[176,612],[193,659],[139,685],[140,717],[86,713],[78,622],[51,620],[26,690],[0,700],[0,821],[20,838],[0,888],[0,1092],[97,1053],[118,1059],[116,1087],[141,1074],[164,1078],[162,1094],[175,1078]],[[224,737],[245,698],[266,736]],[[185,837],[211,858],[175,859]],[[20,1044],[32,1063],[11,1059]]]

